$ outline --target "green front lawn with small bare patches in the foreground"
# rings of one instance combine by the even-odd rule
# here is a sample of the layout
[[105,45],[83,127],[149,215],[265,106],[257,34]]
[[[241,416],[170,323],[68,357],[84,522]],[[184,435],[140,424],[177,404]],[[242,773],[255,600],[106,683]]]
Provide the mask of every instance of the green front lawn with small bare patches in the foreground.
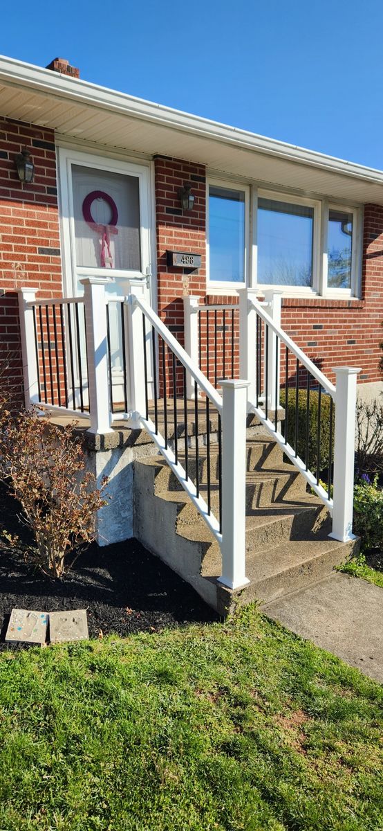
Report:
[[378,831],[373,681],[253,607],[0,656],[1,831]]

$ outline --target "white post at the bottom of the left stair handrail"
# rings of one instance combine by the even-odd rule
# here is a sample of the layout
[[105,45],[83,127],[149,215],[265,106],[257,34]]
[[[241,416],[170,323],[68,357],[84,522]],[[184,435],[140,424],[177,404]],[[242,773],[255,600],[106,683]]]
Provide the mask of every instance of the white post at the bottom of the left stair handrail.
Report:
[[222,575],[219,583],[241,588],[245,576],[246,415],[249,381],[222,386]]

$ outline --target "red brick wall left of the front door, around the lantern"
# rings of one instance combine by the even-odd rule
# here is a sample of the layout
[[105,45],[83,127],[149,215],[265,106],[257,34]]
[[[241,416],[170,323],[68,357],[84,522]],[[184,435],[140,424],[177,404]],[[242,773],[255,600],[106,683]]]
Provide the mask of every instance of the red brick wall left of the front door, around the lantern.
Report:
[[[0,347],[14,356],[20,388],[17,288],[36,288],[40,297],[62,291],[54,140],[51,130],[0,119]],[[24,147],[35,165],[32,184],[17,178],[14,158]]]

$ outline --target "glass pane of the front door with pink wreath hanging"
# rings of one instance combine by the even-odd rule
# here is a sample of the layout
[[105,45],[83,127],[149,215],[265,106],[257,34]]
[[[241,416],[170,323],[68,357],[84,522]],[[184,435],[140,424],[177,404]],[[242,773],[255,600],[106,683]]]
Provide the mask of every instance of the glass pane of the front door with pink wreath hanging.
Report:
[[76,264],[141,270],[137,176],[72,166]]

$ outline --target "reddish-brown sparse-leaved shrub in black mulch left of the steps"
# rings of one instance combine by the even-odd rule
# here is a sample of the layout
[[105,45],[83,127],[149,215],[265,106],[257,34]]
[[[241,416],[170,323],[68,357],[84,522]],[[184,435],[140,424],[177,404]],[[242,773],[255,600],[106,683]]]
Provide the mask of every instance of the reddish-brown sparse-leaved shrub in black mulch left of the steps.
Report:
[[[68,554],[95,535],[95,512],[105,504],[102,487],[85,472],[85,455],[73,425],[51,425],[36,411],[0,419],[0,479],[22,505],[19,518],[32,531],[27,557],[60,578]],[[16,542],[8,537],[9,541]]]

